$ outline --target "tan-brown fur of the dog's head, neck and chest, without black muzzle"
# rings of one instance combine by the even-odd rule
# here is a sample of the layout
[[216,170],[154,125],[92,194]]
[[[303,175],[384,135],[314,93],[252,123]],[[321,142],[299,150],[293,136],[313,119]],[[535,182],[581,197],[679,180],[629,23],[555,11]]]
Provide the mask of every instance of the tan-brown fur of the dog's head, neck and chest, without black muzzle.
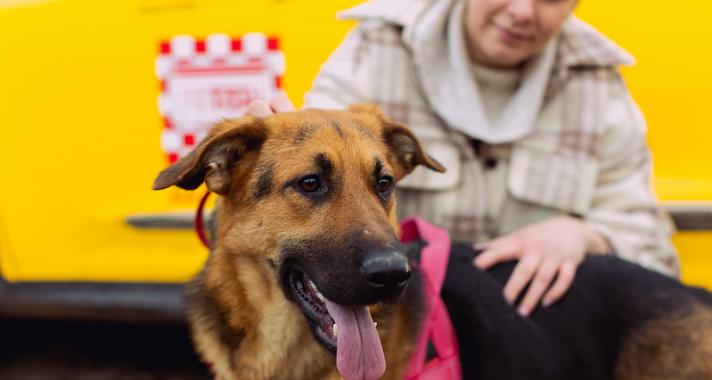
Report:
[[[319,154],[328,156],[340,183],[328,204],[314,208],[283,184],[308,173]],[[189,291],[194,342],[216,378],[339,378],[334,356],[283,295],[276,265],[280,247],[291,241],[341,239],[353,226],[383,241],[395,235],[395,200],[383,204],[372,191],[374,157],[396,181],[418,164],[444,170],[406,128],[357,106],[224,121],[157,178],[156,189],[193,189],[204,179],[222,195],[214,251]],[[372,313],[385,378],[402,378],[417,331],[414,313],[402,305]]]

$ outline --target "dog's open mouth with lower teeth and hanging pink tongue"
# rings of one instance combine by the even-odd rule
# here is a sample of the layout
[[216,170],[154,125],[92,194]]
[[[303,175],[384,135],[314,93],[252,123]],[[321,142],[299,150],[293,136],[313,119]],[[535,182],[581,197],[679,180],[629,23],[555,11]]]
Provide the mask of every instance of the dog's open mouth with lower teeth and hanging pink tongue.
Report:
[[297,270],[289,274],[289,286],[317,341],[336,354],[336,366],[344,379],[383,376],[386,361],[368,306],[329,301],[306,274]]

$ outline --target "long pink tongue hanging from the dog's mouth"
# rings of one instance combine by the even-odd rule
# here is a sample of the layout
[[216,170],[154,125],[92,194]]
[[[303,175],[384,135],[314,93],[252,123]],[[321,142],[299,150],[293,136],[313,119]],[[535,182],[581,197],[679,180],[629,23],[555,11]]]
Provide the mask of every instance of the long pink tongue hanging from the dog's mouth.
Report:
[[380,379],[386,371],[381,339],[367,306],[343,306],[326,300],[337,324],[336,368],[345,380]]

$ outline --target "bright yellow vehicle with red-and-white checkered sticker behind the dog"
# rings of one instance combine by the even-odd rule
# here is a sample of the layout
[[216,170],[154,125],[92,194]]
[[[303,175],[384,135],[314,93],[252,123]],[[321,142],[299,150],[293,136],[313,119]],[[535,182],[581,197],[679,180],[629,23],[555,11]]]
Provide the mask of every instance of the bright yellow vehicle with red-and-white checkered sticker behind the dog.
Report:
[[[208,253],[191,225],[200,192],[150,190],[202,133],[175,125],[171,112],[201,124],[206,115],[181,105],[236,112],[280,88],[299,106],[353,26],[335,13],[357,2],[0,1],[1,313],[178,310],[176,284]],[[704,0],[577,10],[638,59],[623,73],[648,120],[655,191],[680,230],[683,280],[712,289],[710,12]],[[206,64],[201,54],[222,58]],[[244,91],[215,84],[236,72]],[[213,87],[195,87],[200,75],[213,75]],[[194,92],[181,98],[176,88]],[[112,296],[92,298],[97,289]]]

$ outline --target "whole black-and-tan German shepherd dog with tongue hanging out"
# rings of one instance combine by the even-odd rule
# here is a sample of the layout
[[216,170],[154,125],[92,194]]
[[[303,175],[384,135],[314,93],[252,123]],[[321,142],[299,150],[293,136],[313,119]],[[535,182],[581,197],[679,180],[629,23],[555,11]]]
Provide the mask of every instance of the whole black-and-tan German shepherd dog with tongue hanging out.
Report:
[[[217,124],[155,189],[220,195],[212,253],[188,288],[217,379],[402,379],[423,315],[422,243],[400,244],[394,186],[445,168],[375,107]],[[611,256],[530,318],[452,247],[442,297],[466,379],[712,379],[712,295]],[[376,324],[377,323],[377,324]]]

